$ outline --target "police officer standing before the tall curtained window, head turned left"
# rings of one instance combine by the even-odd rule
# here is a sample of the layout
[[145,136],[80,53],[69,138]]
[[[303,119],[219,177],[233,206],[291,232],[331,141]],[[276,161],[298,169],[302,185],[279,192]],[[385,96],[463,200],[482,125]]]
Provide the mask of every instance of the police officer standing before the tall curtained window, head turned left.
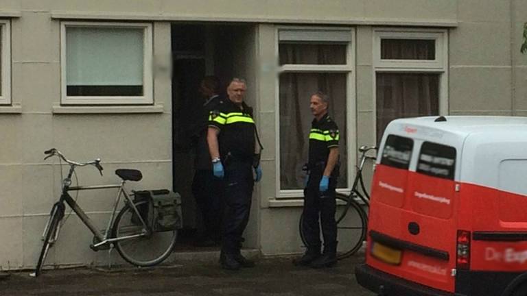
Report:
[[[338,140],[336,123],[327,114],[328,97],[318,92],[311,96],[310,105],[315,119],[309,132],[309,161],[307,184],[304,189],[303,232],[307,251],[294,264],[314,268],[331,267],[337,262],[337,225],[335,221],[335,188],[338,177]],[[320,225],[324,252],[320,254]]]

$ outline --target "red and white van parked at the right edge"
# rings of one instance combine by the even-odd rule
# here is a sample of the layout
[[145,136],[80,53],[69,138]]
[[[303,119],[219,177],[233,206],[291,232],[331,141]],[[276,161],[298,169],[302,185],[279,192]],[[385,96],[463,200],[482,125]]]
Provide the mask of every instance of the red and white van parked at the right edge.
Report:
[[358,282],[388,296],[524,296],[525,272],[527,118],[392,121]]

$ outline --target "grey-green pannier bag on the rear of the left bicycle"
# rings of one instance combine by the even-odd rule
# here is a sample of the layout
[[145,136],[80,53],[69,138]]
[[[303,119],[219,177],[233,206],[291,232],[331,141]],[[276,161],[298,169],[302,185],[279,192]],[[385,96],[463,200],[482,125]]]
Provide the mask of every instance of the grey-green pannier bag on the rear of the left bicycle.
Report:
[[152,229],[154,232],[177,230],[182,227],[181,197],[178,193],[161,189],[151,190],[154,219]]

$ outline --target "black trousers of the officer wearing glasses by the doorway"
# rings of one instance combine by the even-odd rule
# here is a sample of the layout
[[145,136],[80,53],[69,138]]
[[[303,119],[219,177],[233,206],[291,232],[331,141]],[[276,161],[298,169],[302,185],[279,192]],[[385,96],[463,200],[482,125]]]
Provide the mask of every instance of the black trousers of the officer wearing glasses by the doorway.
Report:
[[242,234],[249,221],[253,197],[253,166],[248,162],[229,162],[225,166],[222,252],[239,254]]

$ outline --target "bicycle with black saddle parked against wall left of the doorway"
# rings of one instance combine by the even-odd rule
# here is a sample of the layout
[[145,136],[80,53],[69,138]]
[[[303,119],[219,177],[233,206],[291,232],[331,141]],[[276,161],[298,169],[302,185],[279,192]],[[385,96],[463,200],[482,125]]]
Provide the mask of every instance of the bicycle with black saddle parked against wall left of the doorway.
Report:
[[[43,247],[38,257],[36,269],[31,274],[32,276],[38,277],[40,275],[49,247],[54,245],[58,239],[61,226],[60,221],[65,217],[65,204],[68,204],[71,210],[78,215],[82,223],[93,233],[93,244],[90,245],[93,251],[108,249],[108,252],[110,252],[115,247],[124,260],[137,267],[148,267],[159,264],[172,254],[176,243],[177,230],[168,232],[154,231],[152,225],[150,225],[151,223],[148,223],[148,219],[143,219],[153,217],[153,207],[150,206],[150,201],[132,200],[130,196],[135,196],[135,193],[132,191],[132,194],[128,194],[125,190],[126,181],[137,182],[142,179],[143,175],[141,171],[117,169],[115,174],[121,178],[120,184],[71,186],[71,177],[75,173],[76,167],[93,165],[102,175],[103,168],[100,164],[100,159],[97,158],[91,162],[74,162],[65,158],[55,148],[49,149],[44,153],[47,155],[44,158],[45,160],[51,156],[57,156],[59,160],[67,162],[69,164],[69,173],[62,180],[62,194],[60,195],[60,199],[51,208],[49,220],[43,232]],[[115,204],[106,230],[99,230],[84,210],[76,203],[75,199],[69,195],[69,192],[106,188],[118,188],[117,197],[115,197]],[[124,206],[116,216],[115,214],[117,213],[117,206],[119,205],[121,196],[124,196]]]

